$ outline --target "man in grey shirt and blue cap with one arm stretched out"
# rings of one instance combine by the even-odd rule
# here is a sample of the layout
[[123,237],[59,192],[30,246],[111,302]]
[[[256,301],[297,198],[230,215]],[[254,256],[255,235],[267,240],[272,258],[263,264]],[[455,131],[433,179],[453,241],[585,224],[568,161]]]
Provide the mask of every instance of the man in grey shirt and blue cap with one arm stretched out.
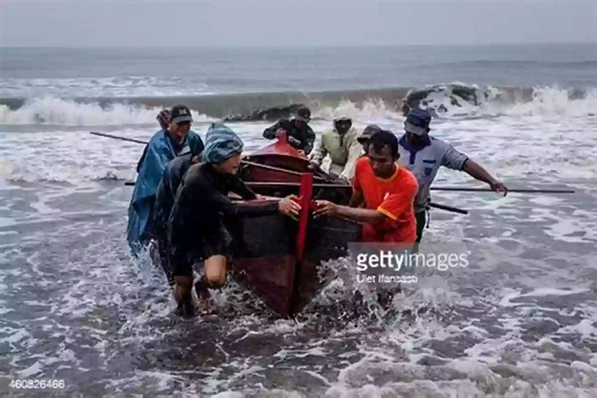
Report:
[[489,184],[494,192],[503,192],[504,196],[508,192],[504,184],[493,178],[464,153],[458,152],[453,146],[438,138],[430,137],[430,123],[431,114],[427,110],[420,108],[411,110],[404,122],[405,134],[398,141],[401,162],[413,172],[418,181],[418,194],[415,200],[417,243],[423,236],[426,212],[430,202],[429,188],[440,166],[464,171],[475,180]]

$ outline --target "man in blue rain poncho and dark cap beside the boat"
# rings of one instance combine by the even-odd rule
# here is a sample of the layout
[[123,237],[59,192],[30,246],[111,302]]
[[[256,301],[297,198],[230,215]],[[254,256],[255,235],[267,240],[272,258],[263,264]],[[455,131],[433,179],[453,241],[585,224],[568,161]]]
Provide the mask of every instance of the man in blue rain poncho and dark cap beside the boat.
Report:
[[134,255],[149,242],[150,214],[167,163],[189,146],[189,141],[201,141],[198,134],[190,131],[192,122],[189,108],[174,106],[168,128],[156,132],[147,144],[128,209],[127,240]]

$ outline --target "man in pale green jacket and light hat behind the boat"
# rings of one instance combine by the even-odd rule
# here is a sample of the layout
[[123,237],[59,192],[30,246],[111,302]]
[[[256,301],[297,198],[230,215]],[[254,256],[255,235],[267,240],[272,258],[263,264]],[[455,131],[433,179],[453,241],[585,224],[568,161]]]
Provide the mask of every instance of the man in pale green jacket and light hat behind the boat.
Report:
[[[319,147],[314,151],[311,163],[319,167],[324,161],[325,156],[330,155],[330,174],[334,177],[341,177],[349,180],[351,175],[344,172],[347,166],[350,166],[349,159],[351,149],[361,146],[356,140],[358,132],[352,128],[352,119],[338,118],[334,120],[334,128],[325,131],[321,135]],[[355,152],[354,150],[352,152]],[[360,152],[360,151],[359,151]]]

